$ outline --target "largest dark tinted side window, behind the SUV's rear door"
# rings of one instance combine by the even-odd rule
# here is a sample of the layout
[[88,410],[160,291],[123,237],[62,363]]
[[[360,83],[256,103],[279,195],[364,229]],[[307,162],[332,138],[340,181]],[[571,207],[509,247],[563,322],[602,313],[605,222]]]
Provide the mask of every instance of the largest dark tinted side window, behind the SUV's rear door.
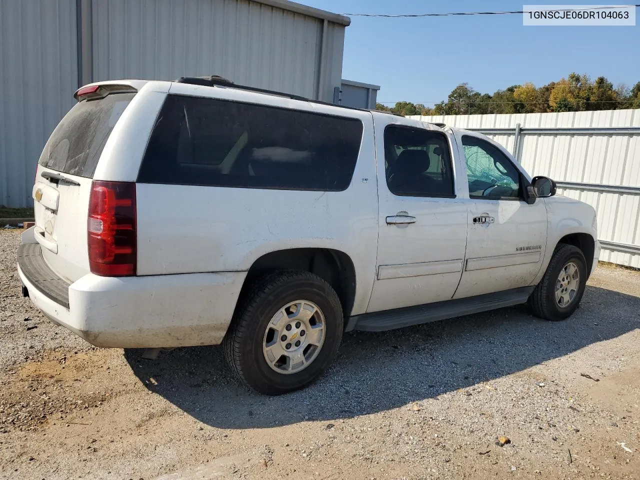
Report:
[[138,182],[340,191],[362,129],[353,118],[168,95]]

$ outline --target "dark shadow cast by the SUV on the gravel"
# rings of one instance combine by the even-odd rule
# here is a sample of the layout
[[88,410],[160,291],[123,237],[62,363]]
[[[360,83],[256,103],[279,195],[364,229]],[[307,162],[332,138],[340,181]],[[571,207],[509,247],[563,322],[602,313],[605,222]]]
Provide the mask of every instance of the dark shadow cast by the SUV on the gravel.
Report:
[[587,287],[580,308],[563,322],[533,317],[522,305],[391,332],[352,332],[323,378],[279,397],[236,381],[218,347],[175,349],[154,362],[129,349],[125,358],[150,391],[205,424],[270,428],[367,415],[499,378],[640,328],[638,312],[638,297]]

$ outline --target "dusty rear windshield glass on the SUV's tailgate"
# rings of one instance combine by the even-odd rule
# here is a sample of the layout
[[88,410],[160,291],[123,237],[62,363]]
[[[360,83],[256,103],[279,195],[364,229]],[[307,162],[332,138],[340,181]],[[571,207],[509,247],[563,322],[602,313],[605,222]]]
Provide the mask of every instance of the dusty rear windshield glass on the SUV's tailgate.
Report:
[[111,93],[82,100],[49,137],[38,163],[58,172],[93,177],[102,148],[135,93]]

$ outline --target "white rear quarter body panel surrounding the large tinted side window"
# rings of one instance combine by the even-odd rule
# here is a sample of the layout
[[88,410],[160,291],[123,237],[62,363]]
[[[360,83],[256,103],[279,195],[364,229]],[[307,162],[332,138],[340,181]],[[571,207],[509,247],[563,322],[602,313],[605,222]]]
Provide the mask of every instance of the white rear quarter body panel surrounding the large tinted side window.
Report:
[[171,93],[357,118],[364,125],[362,144],[344,191],[138,183],[138,275],[247,271],[269,252],[331,248],[353,260],[353,313],[363,313],[371,295],[378,241],[371,113],[232,88],[172,84]]

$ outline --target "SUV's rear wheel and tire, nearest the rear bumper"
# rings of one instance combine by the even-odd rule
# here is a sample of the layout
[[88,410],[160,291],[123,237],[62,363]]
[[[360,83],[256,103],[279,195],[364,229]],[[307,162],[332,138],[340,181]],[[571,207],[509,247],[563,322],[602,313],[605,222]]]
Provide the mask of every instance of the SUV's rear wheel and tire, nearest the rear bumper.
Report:
[[332,364],[342,324],[342,306],[331,285],[306,271],[275,271],[240,300],[223,340],[225,358],[237,378],[257,392],[298,390]]

